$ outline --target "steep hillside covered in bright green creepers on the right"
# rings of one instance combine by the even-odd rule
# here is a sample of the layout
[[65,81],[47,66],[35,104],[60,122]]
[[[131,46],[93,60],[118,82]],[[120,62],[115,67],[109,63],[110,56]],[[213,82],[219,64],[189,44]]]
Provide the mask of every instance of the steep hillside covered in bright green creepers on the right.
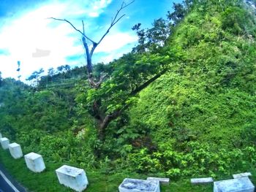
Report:
[[130,126],[157,147],[144,149],[148,159],[142,150],[132,155],[140,170],[155,164],[170,176],[214,174],[255,163],[255,37],[255,18],[241,1],[196,4],[170,39],[181,61],[129,112]]

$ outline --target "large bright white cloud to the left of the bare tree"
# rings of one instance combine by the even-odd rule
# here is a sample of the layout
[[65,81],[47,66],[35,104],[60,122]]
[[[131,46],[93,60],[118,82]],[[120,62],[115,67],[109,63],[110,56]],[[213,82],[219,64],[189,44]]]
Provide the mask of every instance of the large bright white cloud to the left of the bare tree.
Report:
[[[58,9],[57,9],[58,7]],[[17,61],[21,61],[20,73],[25,79],[31,72],[39,68],[48,69],[66,64],[65,56],[83,53],[81,47],[74,47],[76,39],[67,37],[73,33],[67,23],[61,23],[56,28],[49,28],[52,20],[48,15],[61,16],[64,6],[56,4],[41,7],[28,12],[23,17],[13,20],[9,26],[2,28],[0,33],[0,48],[7,48],[10,55],[0,57],[0,71],[3,77],[14,76]],[[50,55],[43,58],[33,58],[36,49],[49,50]]]

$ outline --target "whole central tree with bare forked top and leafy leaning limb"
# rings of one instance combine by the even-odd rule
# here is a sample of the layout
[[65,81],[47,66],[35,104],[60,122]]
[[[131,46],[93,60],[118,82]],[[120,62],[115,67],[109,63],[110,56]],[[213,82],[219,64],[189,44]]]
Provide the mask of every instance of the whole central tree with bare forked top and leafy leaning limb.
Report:
[[[110,29],[124,17],[124,15],[120,15],[121,10],[132,3],[133,1],[128,4],[123,1],[116,15],[111,20],[107,31],[105,31],[105,34],[102,35],[98,42],[86,36],[83,20],[83,31],[80,31],[69,20],[52,18],[53,20],[69,23],[75,31],[82,35],[83,47],[86,50],[86,70],[89,87],[86,88],[85,95],[80,96],[80,98],[83,97],[80,100],[89,105],[89,112],[99,123],[97,128],[99,139],[101,140],[105,139],[105,131],[109,123],[118,118],[124,110],[127,110],[130,104],[132,104],[134,96],[167,71],[165,64],[168,63],[170,58],[167,55],[159,55],[159,53],[144,56],[130,53],[109,64],[107,67],[101,66],[104,70],[102,70],[99,76],[97,75],[99,73],[95,72],[91,61],[94,50],[102,42],[102,39],[106,37]],[[155,37],[159,37],[159,40],[157,40],[159,45],[161,44],[160,36],[162,35],[159,28],[162,26],[162,23],[163,20],[155,22],[157,28],[152,30],[155,33],[151,35],[151,41],[154,41]],[[91,43],[91,49],[89,42]],[[107,79],[107,77],[109,78]]]

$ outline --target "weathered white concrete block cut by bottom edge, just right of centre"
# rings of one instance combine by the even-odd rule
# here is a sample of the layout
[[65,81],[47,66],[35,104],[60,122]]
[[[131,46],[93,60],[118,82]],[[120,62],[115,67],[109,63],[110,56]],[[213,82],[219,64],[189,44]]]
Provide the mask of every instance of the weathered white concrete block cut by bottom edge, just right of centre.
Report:
[[135,180],[125,178],[118,187],[119,192],[160,192],[158,180]]

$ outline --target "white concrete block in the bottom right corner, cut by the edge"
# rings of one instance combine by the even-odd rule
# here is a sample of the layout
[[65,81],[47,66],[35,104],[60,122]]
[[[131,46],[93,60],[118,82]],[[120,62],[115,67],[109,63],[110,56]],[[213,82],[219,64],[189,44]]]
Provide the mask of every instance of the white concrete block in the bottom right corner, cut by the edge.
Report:
[[254,192],[255,186],[248,177],[214,182],[214,192]]

